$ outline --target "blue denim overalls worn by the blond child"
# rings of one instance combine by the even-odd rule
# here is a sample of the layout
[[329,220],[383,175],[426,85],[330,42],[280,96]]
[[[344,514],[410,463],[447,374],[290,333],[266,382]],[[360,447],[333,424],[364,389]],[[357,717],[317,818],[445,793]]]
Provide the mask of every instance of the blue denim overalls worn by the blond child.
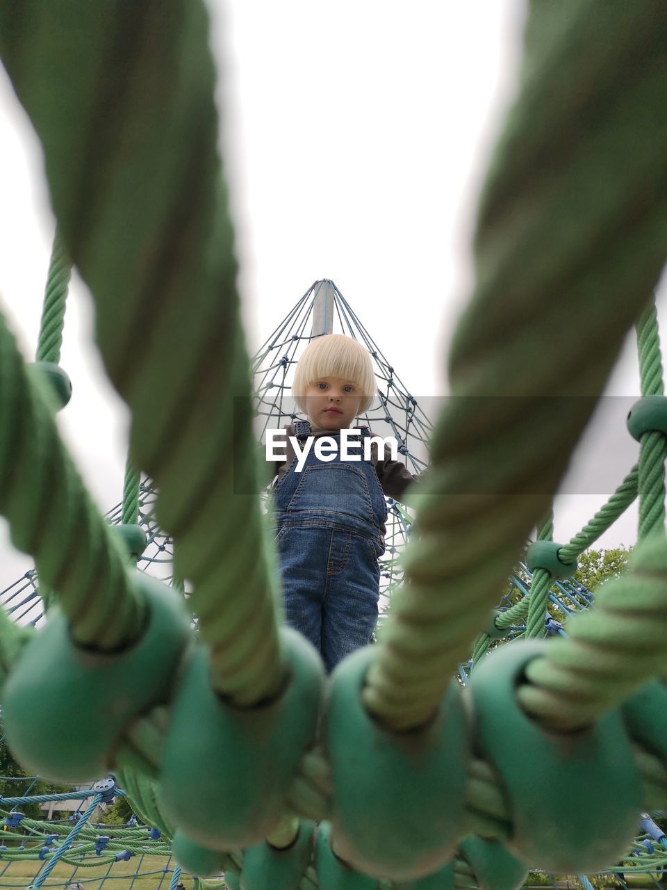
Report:
[[[294,429],[302,449],[309,422]],[[369,435],[361,427],[358,461],[341,459],[340,434],[332,433],[339,453],[328,463],[313,443],[301,473],[294,457],[273,492],[285,619],[322,653],[327,673],[370,642],[377,621],[387,502],[373,461],[363,459]]]

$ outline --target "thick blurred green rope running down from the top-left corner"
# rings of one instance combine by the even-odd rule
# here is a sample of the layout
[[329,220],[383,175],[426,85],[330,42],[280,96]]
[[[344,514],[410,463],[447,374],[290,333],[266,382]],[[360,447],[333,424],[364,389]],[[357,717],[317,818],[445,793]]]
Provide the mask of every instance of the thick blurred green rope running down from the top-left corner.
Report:
[[192,584],[213,687],[252,705],[277,693],[285,666],[205,4],[10,7],[0,6],[0,53],[132,412],[130,455],[157,484],[157,521],[174,539],[176,576]]

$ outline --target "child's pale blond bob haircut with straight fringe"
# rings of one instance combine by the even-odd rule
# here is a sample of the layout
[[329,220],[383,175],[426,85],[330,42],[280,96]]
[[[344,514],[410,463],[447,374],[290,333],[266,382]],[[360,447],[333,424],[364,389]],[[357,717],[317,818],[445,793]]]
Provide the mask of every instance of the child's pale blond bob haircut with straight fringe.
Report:
[[341,377],[358,385],[362,394],[359,414],[373,404],[377,384],[371,356],[364,347],[343,334],[325,334],[312,340],[296,366],[292,395],[299,409],[306,413],[303,396],[306,387],[321,377]]

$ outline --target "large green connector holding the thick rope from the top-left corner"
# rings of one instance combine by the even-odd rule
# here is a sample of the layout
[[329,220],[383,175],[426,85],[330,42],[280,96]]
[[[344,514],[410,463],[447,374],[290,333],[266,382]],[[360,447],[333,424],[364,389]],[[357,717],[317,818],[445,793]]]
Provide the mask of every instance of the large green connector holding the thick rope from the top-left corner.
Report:
[[257,708],[234,708],[211,689],[197,651],[175,696],[162,757],[165,813],[197,844],[237,850],[276,829],[301,756],[313,743],[324,681],[315,648],[283,627],[290,678]]

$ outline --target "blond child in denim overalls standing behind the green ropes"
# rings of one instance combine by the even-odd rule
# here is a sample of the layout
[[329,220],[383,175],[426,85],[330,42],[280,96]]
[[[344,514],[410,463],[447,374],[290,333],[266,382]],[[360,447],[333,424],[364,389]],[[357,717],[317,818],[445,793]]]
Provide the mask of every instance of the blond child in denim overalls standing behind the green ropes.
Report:
[[325,461],[308,442],[332,436],[340,447],[340,431],[352,428],[373,402],[373,364],[356,340],[340,334],[313,340],[297,365],[292,392],[309,421],[295,421],[287,436],[297,439],[304,455],[310,448],[305,462],[298,461],[288,438],[285,459],[272,462],[278,474],[273,511],[285,618],[322,653],[329,673],[370,642],[380,597],[384,496],[401,499],[416,477],[399,461],[378,455],[376,443],[371,459],[364,460],[367,426],[354,427],[361,430],[358,461],[342,459],[340,451]]

